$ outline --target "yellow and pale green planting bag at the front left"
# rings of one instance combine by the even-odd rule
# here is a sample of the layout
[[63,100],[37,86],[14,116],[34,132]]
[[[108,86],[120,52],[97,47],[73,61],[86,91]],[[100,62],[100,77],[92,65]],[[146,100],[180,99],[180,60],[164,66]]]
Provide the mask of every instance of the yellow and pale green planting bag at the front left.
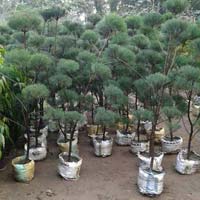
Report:
[[21,164],[25,160],[25,156],[19,156],[12,160],[12,168],[14,178],[19,182],[29,182],[33,179],[35,173],[35,162],[30,160],[25,164]]

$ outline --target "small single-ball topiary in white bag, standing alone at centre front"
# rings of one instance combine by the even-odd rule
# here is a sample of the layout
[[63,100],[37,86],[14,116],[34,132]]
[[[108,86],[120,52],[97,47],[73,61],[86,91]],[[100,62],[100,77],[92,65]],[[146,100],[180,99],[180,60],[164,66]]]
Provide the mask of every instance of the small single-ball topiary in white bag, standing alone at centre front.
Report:
[[101,125],[103,133],[101,137],[93,138],[94,153],[100,157],[110,156],[112,154],[113,138],[106,135],[106,128],[114,125],[115,114],[110,110],[99,107],[95,115],[95,122]]

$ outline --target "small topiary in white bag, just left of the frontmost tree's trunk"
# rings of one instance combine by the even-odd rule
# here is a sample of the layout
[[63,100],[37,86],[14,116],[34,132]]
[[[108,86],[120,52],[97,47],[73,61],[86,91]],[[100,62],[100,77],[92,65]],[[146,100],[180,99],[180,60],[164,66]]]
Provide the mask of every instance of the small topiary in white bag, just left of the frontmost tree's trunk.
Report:
[[145,121],[152,120],[152,113],[139,108],[133,113],[136,120],[136,135],[131,141],[131,152],[147,152],[149,150],[149,137],[145,129]]

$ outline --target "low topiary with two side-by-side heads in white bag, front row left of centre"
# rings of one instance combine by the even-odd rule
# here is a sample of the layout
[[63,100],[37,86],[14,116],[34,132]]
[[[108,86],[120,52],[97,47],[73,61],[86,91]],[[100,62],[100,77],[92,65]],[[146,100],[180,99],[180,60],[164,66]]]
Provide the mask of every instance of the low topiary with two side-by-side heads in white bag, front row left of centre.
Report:
[[[63,139],[58,141],[63,151],[59,154],[58,173],[66,180],[78,179],[82,158],[74,151],[73,141],[78,123],[84,120],[83,115],[76,111],[50,108],[46,113],[46,118],[56,121],[63,134]],[[67,134],[70,134],[70,138],[67,138]]]

